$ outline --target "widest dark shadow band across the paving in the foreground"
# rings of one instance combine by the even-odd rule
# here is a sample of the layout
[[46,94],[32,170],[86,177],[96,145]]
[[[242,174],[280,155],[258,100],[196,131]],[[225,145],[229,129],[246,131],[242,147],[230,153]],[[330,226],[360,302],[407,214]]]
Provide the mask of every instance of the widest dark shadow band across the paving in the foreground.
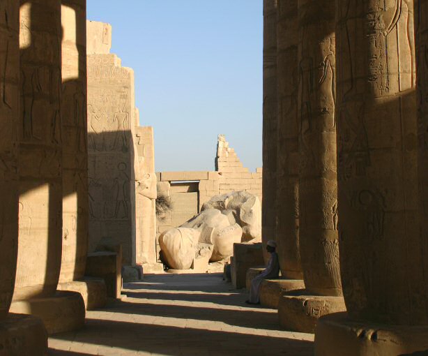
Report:
[[312,355],[310,341],[112,320],[88,320],[84,332],[63,334],[55,339],[171,356]]

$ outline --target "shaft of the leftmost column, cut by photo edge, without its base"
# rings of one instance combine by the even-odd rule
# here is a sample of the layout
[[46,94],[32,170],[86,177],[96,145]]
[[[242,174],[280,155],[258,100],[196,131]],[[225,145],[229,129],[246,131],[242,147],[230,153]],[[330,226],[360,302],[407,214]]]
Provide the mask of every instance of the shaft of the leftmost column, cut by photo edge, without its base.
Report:
[[8,313],[15,285],[18,239],[18,121],[20,117],[20,3],[0,3],[0,320]]

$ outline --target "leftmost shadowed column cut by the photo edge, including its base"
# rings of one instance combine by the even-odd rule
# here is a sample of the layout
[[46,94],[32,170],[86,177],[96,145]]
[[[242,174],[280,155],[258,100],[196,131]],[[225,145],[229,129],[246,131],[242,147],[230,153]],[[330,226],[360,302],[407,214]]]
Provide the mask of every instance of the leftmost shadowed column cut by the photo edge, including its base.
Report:
[[17,267],[20,3],[2,1],[0,14],[0,345],[4,355],[42,356],[47,334],[41,320],[8,313]]

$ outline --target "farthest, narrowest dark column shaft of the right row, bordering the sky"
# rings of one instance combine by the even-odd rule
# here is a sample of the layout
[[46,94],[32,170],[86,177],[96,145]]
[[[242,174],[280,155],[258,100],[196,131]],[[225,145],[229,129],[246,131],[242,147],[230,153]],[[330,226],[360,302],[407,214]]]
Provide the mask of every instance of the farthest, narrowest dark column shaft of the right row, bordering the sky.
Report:
[[[263,247],[275,239],[277,196],[277,0],[263,0]],[[265,262],[269,256],[263,249]]]

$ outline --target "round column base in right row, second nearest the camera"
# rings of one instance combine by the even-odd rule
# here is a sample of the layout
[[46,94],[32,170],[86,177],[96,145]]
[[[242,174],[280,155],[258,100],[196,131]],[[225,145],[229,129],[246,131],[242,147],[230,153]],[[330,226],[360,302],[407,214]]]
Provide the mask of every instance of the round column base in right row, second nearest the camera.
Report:
[[313,334],[321,316],[346,311],[343,297],[309,295],[296,290],[280,297],[278,315],[284,329]]

